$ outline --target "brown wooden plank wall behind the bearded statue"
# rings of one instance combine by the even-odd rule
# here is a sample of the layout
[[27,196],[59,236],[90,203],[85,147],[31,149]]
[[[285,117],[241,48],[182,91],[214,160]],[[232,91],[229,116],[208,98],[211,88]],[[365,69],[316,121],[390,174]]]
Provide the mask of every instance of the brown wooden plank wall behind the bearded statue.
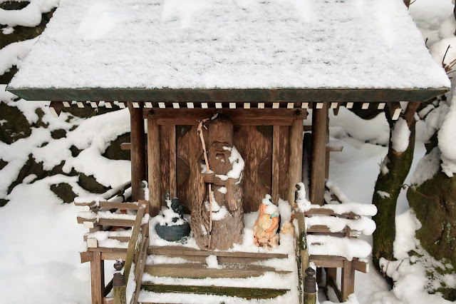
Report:
[[[174,126],[172,126],[174,127]],[[170,185],[170,151],[168,143],[171,129],[161,126],[162,155],[162,193],[168,191]],[[195,172],[201,171],[197,161],[202,157],[201,141],[197,136],[197,126],[175,126],[176,138],[176,183],[177,197],[187,208],[192,208],[195,201]],[[288,191],[289,167],[289,126],[279,128],[279,197],[286,199]],[[204,138],[207,131],[204,130]],[[261,199],[271,194],[272,183],[272,148],[273,126],[234,126],[234,146],[236,146],[245,167],[243,173],[244,212],[257,211]],[[277,203],[277,202],[274,202]]]

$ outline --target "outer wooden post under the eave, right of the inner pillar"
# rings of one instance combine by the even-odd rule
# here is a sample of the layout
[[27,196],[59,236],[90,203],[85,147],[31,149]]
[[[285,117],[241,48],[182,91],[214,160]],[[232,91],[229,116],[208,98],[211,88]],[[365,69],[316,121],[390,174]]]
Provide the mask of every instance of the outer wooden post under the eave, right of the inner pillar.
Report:
[[312,110],[312,156],[311,156],[311,203],[323,205],[325,193],[326,169],[326,116],[328,103],[323,103],[323,108]]

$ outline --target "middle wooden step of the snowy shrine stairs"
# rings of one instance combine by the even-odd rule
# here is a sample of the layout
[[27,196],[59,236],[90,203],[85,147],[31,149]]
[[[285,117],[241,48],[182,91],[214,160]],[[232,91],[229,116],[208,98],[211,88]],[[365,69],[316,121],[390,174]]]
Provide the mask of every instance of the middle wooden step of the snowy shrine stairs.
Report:
[[217,264],[215,268],[209,268],[203,263],[146,265],[144,271],[152,276],[171,278],[250,278],[259,277],[267,272],[291,273],[291,271],[276,270],[262,265]]

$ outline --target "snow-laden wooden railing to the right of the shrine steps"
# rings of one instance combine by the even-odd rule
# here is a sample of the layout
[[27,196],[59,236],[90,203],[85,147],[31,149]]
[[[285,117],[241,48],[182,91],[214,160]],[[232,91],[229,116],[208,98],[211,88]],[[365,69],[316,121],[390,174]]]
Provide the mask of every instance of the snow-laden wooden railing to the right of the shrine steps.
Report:
[[[329,181],[326,181],[323,206],[312,204],[306,199],[304,184],[299,183],[296,188],[299,225],[306,227],[306,235],[299,236],[301,243],[304,243],[301,249],[307,251],[309,261],[317,267],[327,268],[326,285],[331,285],[338,299],[345,301],[354,292],[355,270],[368,272],[366,258],[372,248],[358,236],[361,233],[373,233],[375,222],[368,217],[374,216],[377,209],[370,204],[349,201]],[[341,290],[336,283],[337,268],[342,268]]]

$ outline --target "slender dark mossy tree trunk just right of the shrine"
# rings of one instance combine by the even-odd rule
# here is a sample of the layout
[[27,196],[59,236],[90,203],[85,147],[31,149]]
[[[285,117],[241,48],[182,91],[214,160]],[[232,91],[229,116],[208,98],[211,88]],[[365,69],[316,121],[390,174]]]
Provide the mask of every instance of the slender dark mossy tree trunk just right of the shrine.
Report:
[[[405,178],[410,171],[410,166],[412,166],[413,152],[415,151],[415,113],[419,105],[418,102],[408,103],[408,107],[402,116],[410,129],[408,148],[404,152],[397,152],[393,149],[391,134],[395,121],[391,119],[388,111],[386,112],[390,125],[390,143],[386,156],[388,163],[385,165],[388,168],[388,173],[383,173],[380,170],[372,198],[372,203],[378,209],[377,214],[372,218],[377,225],[373,233],[373,264],[380,273],[382,272],[378,263],[380,258],[393,260],[396,203]],[[378,191],[388,193],[389,197],[380,195]]]

